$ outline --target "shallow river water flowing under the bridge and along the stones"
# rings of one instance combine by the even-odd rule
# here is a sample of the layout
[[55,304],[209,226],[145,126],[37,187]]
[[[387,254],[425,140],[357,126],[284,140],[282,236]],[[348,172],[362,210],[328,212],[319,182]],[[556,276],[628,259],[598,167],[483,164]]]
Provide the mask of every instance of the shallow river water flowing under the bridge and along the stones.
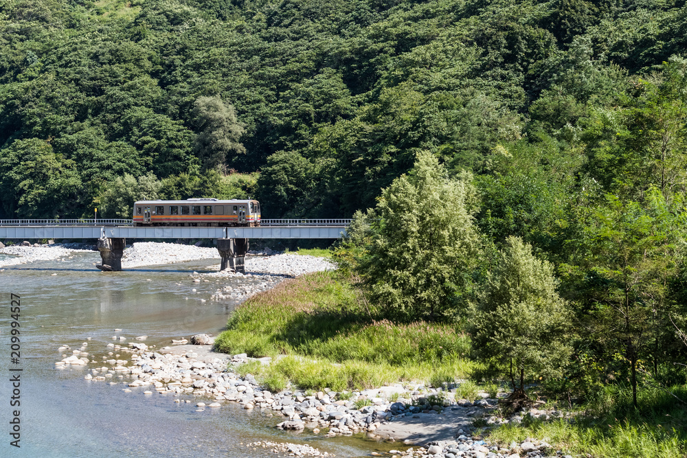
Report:
[[[121,381],[84,380],[93,365],[56,369],[54,363],[71,354],[58,352],[60,345],[78,349],[88,342],[88,357],[100,359],[114,335],[126,336],[117,342],[122,346],[147,335],[146,345],[162,347],[171,338],[218,334],[235,304],[210,301],[212,293],[231,282],[260,281],[192,283],[192,271],[209,271],[218,260],[109,273],[95,269],[99,261],[97,252],[78,253],[71,260],[21,264],[0,272],[0,457],[274,457],[269,449],[246,447],[258,440],[310,444],[337,457],[388,450],[388,444],[362,437],[324,439],[278,431],[274,425],[284,417],[271,411],[247,413],[238,404],[226,404],[197,412],[195,403],[201,398],[182,396],[192,402],[177,404],[172,395],[144,395],[144,388],[124,393]],[[19,364],[10,360],[10,293],[21,296]],[[9,380],[17,373],[21,405],[10,407]],[[14,410],[19,410],[21,448],[10,445]]]

